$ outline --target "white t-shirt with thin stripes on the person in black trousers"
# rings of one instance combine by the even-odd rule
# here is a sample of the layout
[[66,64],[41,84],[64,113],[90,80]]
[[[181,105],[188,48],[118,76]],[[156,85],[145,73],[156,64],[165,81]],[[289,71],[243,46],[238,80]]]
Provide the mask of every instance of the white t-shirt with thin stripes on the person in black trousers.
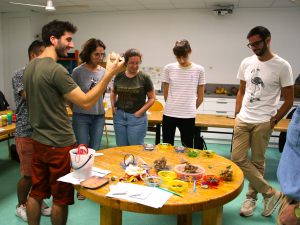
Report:
[[165,67],[162,81],[169,83],[164,115],[195,118],[198,86],[205,85],[204,68],[195,63],[188,67],[170,63]]

